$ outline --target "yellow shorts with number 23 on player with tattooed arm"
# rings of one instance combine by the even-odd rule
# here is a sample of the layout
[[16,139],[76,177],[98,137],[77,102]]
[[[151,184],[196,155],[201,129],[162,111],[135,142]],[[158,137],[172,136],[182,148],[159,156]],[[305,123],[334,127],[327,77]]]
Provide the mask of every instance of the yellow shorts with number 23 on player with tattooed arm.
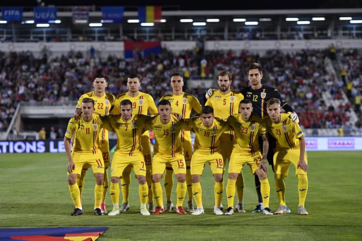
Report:
[[240,173],[241,170],[243,170],[244,164],[247,163],[255,175],[255,172],[259,169],[261,157],[262,155],[260,152],[248,155],[242,152],[233,151],[229,162],[229,173]]

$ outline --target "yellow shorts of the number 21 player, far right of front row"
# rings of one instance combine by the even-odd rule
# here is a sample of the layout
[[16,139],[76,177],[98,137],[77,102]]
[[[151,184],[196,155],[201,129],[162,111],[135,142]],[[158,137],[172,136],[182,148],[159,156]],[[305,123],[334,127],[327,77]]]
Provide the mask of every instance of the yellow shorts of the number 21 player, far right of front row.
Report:
[[[279,175],[288,176],[290,163],[294,164],[295,175],[307,174],[302,168],[297,168],[299,162],[300,149],[299,147],[292,148],[278,148],[274,154],[274,173]],[[304,160],[308,164],[307,152],[304,153]]]

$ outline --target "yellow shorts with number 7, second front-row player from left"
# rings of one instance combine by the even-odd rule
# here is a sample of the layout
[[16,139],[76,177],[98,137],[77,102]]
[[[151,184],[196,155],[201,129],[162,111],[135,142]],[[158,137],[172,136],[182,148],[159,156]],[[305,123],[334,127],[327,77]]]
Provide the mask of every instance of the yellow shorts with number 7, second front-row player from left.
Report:
[[141,154],[136,156],[121,155],[117,151],[114,152],[111,167],[112,177],[121,177],[123,170],[130,166],[136,175],[146,176],[146,165]]

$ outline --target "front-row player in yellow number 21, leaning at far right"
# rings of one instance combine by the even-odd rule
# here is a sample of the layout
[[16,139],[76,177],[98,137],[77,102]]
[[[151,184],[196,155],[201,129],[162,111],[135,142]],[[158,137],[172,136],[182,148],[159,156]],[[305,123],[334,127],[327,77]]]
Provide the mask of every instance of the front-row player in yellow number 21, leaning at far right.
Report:
[[[280,100],[271,98],[266,102],[269,117],[265,124],[268,132],[277,140],[274,154],[275,189],[279,199],[279,208],[275,214],[285,214],[285,183],[284,178],[288,176],[290,163],[295,166],[295,175],[298,177],[299,205],[298,213],[307,215],[304,208],[308,190],[307,179],[307,152],[306,140],[298,124],[289,118],[289,114],[281,114]],[[299,139],[297,141],[297,139]]]

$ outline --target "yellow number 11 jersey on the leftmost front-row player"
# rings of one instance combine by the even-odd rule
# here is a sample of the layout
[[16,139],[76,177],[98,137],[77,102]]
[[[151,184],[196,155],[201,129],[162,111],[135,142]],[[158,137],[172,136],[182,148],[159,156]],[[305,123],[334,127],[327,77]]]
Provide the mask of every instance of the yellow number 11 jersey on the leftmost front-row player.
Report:
[[96,154],[99,151],[98,136],[105,125],[102,117],[95,113],[88,122],[83,120],[83,114],[78,120],[71,118],[65,136],[71,139],[73,134],[75,135],[72,152]]

